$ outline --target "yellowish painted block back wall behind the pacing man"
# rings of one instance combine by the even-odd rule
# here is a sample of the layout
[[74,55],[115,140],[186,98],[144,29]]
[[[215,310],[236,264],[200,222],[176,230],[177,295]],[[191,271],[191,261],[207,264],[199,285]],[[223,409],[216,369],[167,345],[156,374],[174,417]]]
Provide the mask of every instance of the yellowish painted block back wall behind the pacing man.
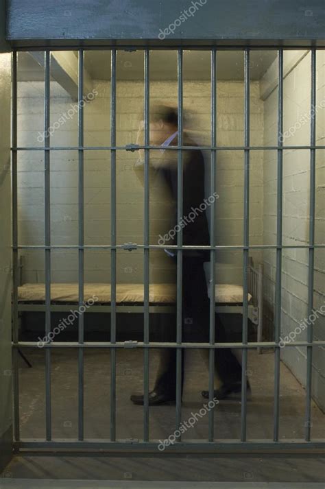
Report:
[[[94,81],[98,95],[84,108],[84,143],[110,145],[110,83]],[[219,145],[243,144],[243,82],[219,82],[217,91]],[[44,123],[43,82],[19,83],[19,145],[41,145],[39,132]],[[176,82],[152,82],[150,102],[177,104]],[[75,104],[56,82],[51,82],[51,125]],[[187,128],[200,144],[210,143],[210,83],[184,82],[184,109],[189,113]],[[143,82],[117,82],[117,145],[136,142],[139,119],[143,114]],[[251,141],[263,142],[263,101],[258,82],[251,85]],[[60,126],[51,136],[51,145],[77,145],[77,115]],[[210,155],[206,158],[206,196],[209,184]],[[243,243],[243,152],[217,154],[216,239],[222,245]],[[143,187],[132,166],[136,152],[117,151],[117,242],[143,243]],[[43,152],[24,152],[19,156],[19,241],[44,243],[44,158]],[[77,243],[77,152],[51,154],[51,237],[56,245]],[[110,242],[110,152],[84,153],[85,243]],[[250,238],[262,243],[263,152],[251,155]],[[163,187],[152,188],[150,200],[150,242],[169,230],[168,202]],[[167,211],[167,212],[166,212]],[[77,280],[77,252],[52,254],[52,280]],[[256,254],[256,259],[258,259]],[[241,283],[241,252],[220,252],[217,257],[217,281]],[[161,252],[150,254],[150,280],[173,281],[175,269]],[[118,252],[118,281],[143,280],[143,254]],[[87,251],[85,280],[110,280],[109,252]],[[44,258],[40,252],[25,252],[23,281],[44,281]]]

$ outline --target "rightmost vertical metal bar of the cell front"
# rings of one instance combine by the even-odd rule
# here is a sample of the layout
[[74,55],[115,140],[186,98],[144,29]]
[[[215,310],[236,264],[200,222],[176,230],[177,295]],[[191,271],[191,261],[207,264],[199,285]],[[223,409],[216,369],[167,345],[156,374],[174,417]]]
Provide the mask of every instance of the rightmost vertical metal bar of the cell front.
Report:
[[[316,50],[311,49],[311,146],[316,144]],[[315,148],[311,148],[310,204],[309,204],[309,269],[308,317],[313,313],[313,284],[315,261]],[[309,321],[307,341],[313,343],[313,323]],[[311,385],[313,381],[313,346],[307,346],[305,440],[311,440]]]

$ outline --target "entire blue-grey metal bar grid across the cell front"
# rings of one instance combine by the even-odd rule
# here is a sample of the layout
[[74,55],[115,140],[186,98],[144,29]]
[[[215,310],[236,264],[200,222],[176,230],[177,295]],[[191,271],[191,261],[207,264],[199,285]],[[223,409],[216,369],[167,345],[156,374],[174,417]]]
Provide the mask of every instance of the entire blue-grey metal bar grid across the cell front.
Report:
[[[178,219],[182,217],[182,200],[183,200],[183,185],[182,185],[182,150],[189,147],[182,145],[183,139],[183,123],[182,123],[182,97],[183,97],[183,76],[182,76],[182,55],[183,49],[178,49],[178,145],[176,147],[167,147],[167,150],[178,151]],[[101,344],[86,344],[84,343],[84,318],[80,318],[79,337],[77,343],[64,344],[48,344],[45,345],[45,377],[46,377],[46,439],[43,446],[49,446],[51,442],[51,348],[67,347],[77,348],[79,351],[79,440],[84,440],[84,348],[110,348],[111,352],[111,437],[110,441],[116,440],[116,422],[115,422],[115,387],[116,387],[116,350],[117,348],[128,348],[127,344],[116,342],[116,252],[117,249],[123,248],[123,245],[116,244],[116,151],[130,150],[136,151],[139,149],[145,150],[145,215],[144,215],[144,246],[136,245],[137,248],[144,250],[144,342],[137,343],[136,347],[143,348],[144,352],[144,384],[145,384],[145,407],[144,407],[144,442],[149,442],[149,348],[163,346],[165,348],[176,348],[177,353],[177,381],[176,381],[176,424],[180,426],[181,420],[181,364],[182,355],[185,348],[197,348],[197,344],[182,343],[182,251],[189,249],[208,249],[210,250],[210,278],[211,288],[215,288],[215,251],[218,249],[241,249],[243,250],[243,338],[242,344],[215,344],[215,305],[214,301],[210,301],[210,341],[208,344],[200,344],[200,347],[209,350],[209,396],[213,393],[213,375],[214,374],[214,356],[216,348],[240,348],[243,355],[243,376],[242,376],[242,407],[241,407],[241,442],[239,446],[246,446],[246,417],[247,417],[247,392],[246,392],[246,371],[248,363],[248,350],[256,348],[275,347],[275,369],[274,369],[274,445],[279,446],[278,442],[278,419],[279,419],[279,393],[280,393],[280,348],[278,345],[280,339],[280,308],[281,308],[281,267],[282,267],[282,249],[284,248],[301,248],[309,250],[309,298],[308,311],[309,314],[313,311],[313,275],[314,275],[314,252],[315,248],[324,248],[322,245],[315,245],[315,150],[323,149],[325,146],[315,144],[315,97],[316,97],[316,80],[315,80],[315,64],[316,51],[311,50],[311,145],[309,146],[292,146],[286,149],[309,149],[311,151],[311,176],[310,176],[310,223],[309,223],[309,246],[282,246],[282,90],[283,90],[283,50],[278,51],[278,145],[275,147],[251,147],[250,146],[250,49],[245,48],[245,143],[242,147],[217,147],[216,145],[216,52],[212,51],[211,58],[211,108],[212,108],[212,144],[208,147],[193,147],[195,150],[208,149],[211,152],[211,182],[210,190],[215,189],[215,165],[217,150],[244,150],[245,152],[245,167],[244,167],[244,232],[243,246],[215,246],[214,226],[215,215],[214,208],[211,208],[211,246],[210,247],[186,247],[182,246],[182,230],[178,233],[178,245],[175,249],[178,252],[177,265],[177,339],[175,344],[154,344],[149,343],[149,250],[163,248],[160,246],[149,245],[149,150],[158,150],[159,147],[149,145],[149,50],[145,51],[145,144],[143,146],[132,145],[132,147],[116,146],[116,49],[112,51],[112,82],[111,82],[111,146],[109,147],[87,147],[87,150],[110,150],[112,158],[112,228],[111,246],[84,246],[84,120],[82,104],[79,108],[79,142],[77,147],[51,147],[49,137],[50,123],[50,75],[51,75],[51,51],[45,51],[45,147],[17,147],[17,76],[16,76],[16,52],[13,54],[13,86],[12,86],[12,208],[13,208],[13,267],[14,267],[14,296],[13,296],[13,315],[14,315],[14,405],[15,405],[15,440],[19,440],[19,379],[18,379],[18,359],[17,353],[19,347],[37,347],[37,343],[19,342],[18,337],[18,251],[19,249],[40,249],[45,250],[45,332],[48,334],[51,331],[51,250],[53,248],[77,248],[79,250],[79,301],[81,307],[84,304],[84,249],[109,249],[112,258],[112,328],[111,341]],[[83,67],[84,67],[84,51],[79,51],[79,102],[83,97]],[[114,79],[114,80],[113,80]],[[276,246],[250,246],[249,245],[249,187],[250,187],[250,151],[256,149],[275,149],[278,151],[278,195],[277,195],[277,242]],[[17,152],[21,150],[42,150],[45,152],[45,246],[18,246],[18,223],[17,223]],[[50,226],[50,151],[51,150],[77,150],[79,152],[79,242],[77,246],[51,246],[51,226]],[[276,317],[275,317],[275,342],[248,343],[248,261],[250,249],[276,249]],[[114,261],[114,266],[113,266]],[[16,289],[16,291],[15,291]],[[213,294],[211,294],[213,296]],[[306,419],[305,427],[306,444],[303,446],[311,446],[311,383],[312,383],[312,353],[313,347],[322,346],[324,342],[313,342],[313,328],[310,325],[307,333],[306,342],[294,342],[288,344],[288,347],[306,346],[307,348],[307,381],[306,381]],[[182,351],[184,350],[184,351]],[[17,378],[16,378],[17,376]],[[18,410],[17,410],[18,409]],[[212,411],[212,410],[210,410]],[[213,413],[209,413],[209,441],[214,441]],[[182,446],[180,438],[178,445]],[[212,443],[214,444],[214,443]],[[149,444],[147,444],[149,445]],[[187,445],[187,443],[186,443]],[[252,445],[252,443],[250,443]],[[258,442],[254,443],[257,446]],[[18,446],[18,444],[17,444]],[[35,446],[35,444],[34,444]],[[66,445],[65,445],[66,446]],[[282,446],[282,444],[281,444]],[[296,446],[296,443],[295,443]],[[316,444],[316,447],[320,444]]]

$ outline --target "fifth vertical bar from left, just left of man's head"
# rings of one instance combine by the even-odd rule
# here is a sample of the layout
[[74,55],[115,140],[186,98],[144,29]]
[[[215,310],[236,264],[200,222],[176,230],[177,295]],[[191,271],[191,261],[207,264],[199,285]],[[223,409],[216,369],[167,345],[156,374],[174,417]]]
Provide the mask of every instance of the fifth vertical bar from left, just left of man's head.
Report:
[[[145,145],[149,145],[149,49],[145,49]],[[145,150],[144,243],[149,246],[149,150]],[[149,344],[149,248],[144,250],[144,332],[143,341]],[[143,350],[143,440],[149,441],[149,348]]]

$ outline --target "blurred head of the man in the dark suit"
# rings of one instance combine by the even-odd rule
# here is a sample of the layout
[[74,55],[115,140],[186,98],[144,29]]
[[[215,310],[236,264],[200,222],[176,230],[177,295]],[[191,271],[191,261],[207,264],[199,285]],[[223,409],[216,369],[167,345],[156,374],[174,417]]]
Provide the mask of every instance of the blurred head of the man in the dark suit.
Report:
[[178,128],[178,111],[175,107],[163,104],[153,106],[150,110],[149,139],[151,145],[161,145],[176,132]]

